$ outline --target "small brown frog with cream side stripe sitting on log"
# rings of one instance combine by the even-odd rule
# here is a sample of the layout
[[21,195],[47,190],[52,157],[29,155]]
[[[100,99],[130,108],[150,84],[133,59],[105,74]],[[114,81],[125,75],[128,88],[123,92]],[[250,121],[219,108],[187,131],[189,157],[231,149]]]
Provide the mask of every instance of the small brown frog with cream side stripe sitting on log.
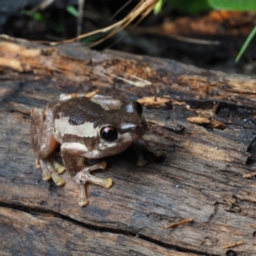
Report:
[[[111,178],[90,174],[94,170],[105,170],[104,160],[93,166],[85,161],[119,154],[130,147],[137,154],[137,165],[145,166],[144,144],[140,139],[147,128],[139,102],[104,96],[97,91],[61,94],[58,101],[49,103],[45,109],[31,110],[32,149],[43,180],[52,178],[57,186],[62,186],[66,181],[60,174],[67,170],[79,188],[80,207],[88,204],[85,183],[105,189],[113,184]],[[63,165],[56,160],[57,148],[60,148]],[[159,150],[149,151],[156,156],[162,154]]]

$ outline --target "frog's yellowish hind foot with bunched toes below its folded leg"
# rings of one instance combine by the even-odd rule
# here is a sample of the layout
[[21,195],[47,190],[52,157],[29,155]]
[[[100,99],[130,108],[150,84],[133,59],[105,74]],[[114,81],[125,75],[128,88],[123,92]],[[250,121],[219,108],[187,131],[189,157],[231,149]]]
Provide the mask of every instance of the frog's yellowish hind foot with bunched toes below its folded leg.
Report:
[[65,171],[65,167],[61,166],[57,161],[50,157],[39,159],[37,160],[37,167],[41,168],[44,181],[52,178],[57,186],[62,186],[65,183],[65,180],[59,176],[60,173]]

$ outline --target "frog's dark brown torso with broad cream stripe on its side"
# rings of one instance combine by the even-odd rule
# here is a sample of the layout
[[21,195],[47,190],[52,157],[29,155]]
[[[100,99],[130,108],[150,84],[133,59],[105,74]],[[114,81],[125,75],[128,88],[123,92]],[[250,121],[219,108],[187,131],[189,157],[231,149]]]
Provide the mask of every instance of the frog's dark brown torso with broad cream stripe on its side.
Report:
[[100,105],[86,97],[71,98],[49,106],[54,118],[54,137],[62,143],[83,143],[88,149],[94,147],[98,137],[98,120],[106,112]]

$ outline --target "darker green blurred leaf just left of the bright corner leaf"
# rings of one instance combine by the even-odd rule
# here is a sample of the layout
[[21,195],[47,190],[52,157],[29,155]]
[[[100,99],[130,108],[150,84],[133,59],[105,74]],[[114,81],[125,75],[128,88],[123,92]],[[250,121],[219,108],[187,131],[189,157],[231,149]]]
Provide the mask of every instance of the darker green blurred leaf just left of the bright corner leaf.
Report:
[[174,9],[184,13],[196,14],[210,9],[207,0],[167,0]]

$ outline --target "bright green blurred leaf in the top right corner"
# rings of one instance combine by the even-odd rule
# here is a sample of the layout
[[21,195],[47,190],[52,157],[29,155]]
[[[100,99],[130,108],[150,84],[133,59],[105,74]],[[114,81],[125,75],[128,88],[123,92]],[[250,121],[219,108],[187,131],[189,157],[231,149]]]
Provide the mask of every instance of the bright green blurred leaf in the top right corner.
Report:
[[213,9],[230,11],[256,10],[255,0],[208,0],[208,4]]

